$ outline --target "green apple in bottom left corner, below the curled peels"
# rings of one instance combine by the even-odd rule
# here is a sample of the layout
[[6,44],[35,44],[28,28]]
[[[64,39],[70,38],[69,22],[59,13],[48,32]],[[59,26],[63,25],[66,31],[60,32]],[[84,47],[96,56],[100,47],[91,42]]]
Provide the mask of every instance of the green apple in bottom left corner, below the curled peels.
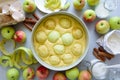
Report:
[[19,80],[19,71],[16,68],[11,68],[7,71],[7,80]]

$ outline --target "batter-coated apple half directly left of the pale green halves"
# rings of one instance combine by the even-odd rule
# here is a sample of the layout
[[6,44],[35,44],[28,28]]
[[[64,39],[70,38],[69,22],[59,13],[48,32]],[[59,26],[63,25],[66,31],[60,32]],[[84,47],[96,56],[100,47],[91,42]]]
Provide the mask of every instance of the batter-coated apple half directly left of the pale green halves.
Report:
[[44,43],[47,39],[47,35],[43,31],[38,31],[35,37],[36,37],[36,41],[39,43]]

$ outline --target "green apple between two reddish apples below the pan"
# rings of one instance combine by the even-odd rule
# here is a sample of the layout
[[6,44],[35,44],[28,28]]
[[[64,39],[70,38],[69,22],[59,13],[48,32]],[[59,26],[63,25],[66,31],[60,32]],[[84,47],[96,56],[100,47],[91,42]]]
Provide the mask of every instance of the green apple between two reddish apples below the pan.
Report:
[[75,80],[79,76],[79,69],[77,67],[74,67],[72,69],[67,70],[65,74],[68,79]]

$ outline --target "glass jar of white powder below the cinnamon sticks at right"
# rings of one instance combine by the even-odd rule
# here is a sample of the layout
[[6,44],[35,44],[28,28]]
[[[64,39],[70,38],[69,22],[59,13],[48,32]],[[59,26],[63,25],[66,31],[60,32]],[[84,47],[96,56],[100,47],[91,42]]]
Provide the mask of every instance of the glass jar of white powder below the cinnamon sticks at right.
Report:
[[108,69],[106,68],[105,63],[101,62],[98,59],[93,59],[89,62],[89,64],[90,66],[88,68],[95,79],[106,79]]

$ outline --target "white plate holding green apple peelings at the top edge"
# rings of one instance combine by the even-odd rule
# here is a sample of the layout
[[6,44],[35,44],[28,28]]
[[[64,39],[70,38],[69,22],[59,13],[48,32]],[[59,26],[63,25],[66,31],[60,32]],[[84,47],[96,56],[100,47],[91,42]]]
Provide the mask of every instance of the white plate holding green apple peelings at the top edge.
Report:
[[44,13],[58,12],[67,0],[34,0],[37,8]]

